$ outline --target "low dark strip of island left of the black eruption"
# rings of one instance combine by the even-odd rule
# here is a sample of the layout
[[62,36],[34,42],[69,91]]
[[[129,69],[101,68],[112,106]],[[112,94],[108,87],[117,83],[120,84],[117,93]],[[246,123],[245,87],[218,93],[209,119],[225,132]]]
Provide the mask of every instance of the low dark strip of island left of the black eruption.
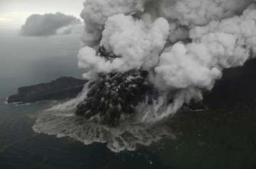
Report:
[[61,77],[50,83],[40,83],[38,85],[18,88],[16,95],[11,95],[7,103],[36,103],[45,100],[63,100],[75,98],[82,91],[87,83],[85,80],[73,77]]

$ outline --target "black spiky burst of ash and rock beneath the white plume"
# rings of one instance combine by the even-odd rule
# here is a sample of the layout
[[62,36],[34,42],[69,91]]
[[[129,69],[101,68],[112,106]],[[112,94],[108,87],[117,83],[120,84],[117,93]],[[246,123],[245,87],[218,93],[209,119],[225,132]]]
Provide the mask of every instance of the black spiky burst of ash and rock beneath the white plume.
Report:
[[99,115],[102,124],[117,126],[120,118],[132,115],[134,107],[150,93],[146,76],[146,71],[138,70],[100,74],[100,79],[91,84],[87,98],[78,105],[75,114],[87,119]]

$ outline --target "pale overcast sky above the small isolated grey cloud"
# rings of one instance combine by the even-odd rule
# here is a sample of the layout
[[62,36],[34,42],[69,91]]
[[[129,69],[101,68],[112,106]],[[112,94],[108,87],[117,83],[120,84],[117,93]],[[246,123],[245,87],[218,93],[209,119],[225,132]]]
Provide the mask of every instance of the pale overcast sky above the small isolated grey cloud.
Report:
[[79,17],[85,0],[0,0],[0,28],[20,28],[33,13],[55,13]]

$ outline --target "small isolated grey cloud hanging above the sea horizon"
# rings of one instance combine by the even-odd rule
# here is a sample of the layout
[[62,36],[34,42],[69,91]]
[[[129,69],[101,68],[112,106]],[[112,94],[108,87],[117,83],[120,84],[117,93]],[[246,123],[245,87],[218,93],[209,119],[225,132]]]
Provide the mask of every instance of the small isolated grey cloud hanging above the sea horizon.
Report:
[[[70,34],[81,25],[80,19],[63,13],[33,14],[26,19],[21,27],[23,36],[50,36]],[[81,30],[82,32],[82,30]],[[75,33],[78,33],[75,32]]]

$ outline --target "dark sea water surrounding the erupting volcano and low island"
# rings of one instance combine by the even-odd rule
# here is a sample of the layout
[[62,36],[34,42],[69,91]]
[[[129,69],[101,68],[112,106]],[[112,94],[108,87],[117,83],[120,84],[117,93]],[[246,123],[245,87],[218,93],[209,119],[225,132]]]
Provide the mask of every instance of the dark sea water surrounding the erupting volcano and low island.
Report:
[[[0,169],[256,168],[256,92],[252,90],[256,83],[250,81],[255,78],[253,70],[241,75],[247,76],[246,90],[231,87],[230,91],[216,92],[210,98],[218,101],[206,98],[210,110],[179,112],[168,120],[176,139],[114,153],[105,144],[85,146],[69,137],[59,139],[33,132],[38,113],[56,103],[4,103],[20,86],[60,76],[79,78],[78,36],[28,38],[1,33],[0,44]],[[234,80],[226,85],[241,83]],[[235,99],[235,93],[239,99]],[[234,98],[232,103],[227,102],[230,98]]]

